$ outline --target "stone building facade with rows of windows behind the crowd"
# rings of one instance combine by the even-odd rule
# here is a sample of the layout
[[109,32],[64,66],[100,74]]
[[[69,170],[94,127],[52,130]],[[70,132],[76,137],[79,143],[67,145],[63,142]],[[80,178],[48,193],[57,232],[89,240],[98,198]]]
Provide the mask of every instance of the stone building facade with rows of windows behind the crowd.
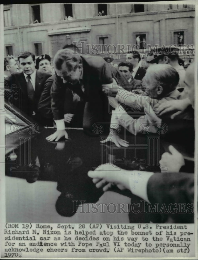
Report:
[[[186,1],[187,2],[187,1]],[[194,5],[164,4],[4,4],[4,55],[31,51],[36,56],[56,51],[72,41],[77,46],[96,44],[106,55],[106,45],[115,45],[111,56],[123,60],[118,44],[140,49],[147,44],[194,45]],[[100,48],[100,49],[99,49]]]

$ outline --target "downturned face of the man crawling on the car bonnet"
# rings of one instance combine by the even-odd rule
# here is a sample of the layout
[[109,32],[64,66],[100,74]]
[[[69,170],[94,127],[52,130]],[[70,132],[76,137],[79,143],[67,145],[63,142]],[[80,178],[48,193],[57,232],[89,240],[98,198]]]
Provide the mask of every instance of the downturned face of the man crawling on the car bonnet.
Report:
[[60,70],[55,70],[57,75],[63,79],[63,83],[70,82],[71,84],[76,84],[80,79],[82,64],[78,64],[76,70],[68,71],[66,62],[64,62]]

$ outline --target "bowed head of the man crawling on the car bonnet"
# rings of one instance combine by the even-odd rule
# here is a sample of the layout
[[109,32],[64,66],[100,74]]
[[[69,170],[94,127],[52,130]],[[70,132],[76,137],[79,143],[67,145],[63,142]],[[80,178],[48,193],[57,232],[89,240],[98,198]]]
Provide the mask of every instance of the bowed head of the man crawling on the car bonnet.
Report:
[[73,54],[71,49],[57,51],[54,56],[54,69],[63,82],[76,84],[82,73],[82,61],[80,54]]

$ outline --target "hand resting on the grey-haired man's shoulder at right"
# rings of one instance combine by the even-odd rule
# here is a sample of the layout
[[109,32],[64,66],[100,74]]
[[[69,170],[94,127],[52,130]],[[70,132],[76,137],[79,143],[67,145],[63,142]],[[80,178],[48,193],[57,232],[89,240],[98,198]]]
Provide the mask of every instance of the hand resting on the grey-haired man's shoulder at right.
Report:
[[188,98],[181,100],[167,100],[159,105],[155,105],[153,109],[159,116],[174,110],[179,110],[171,116],[171,118],[174,118],[176,115],[182,113],[189,105],[190,100]]

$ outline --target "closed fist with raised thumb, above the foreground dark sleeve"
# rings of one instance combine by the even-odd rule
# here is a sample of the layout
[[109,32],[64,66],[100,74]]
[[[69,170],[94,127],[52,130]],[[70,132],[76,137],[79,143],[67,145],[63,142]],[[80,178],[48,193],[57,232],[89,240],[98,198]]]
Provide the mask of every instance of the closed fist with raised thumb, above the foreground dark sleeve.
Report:
[[164,168],[167,168],[168,172],[179,172],[180,168],[185,165],[184,158],[172,145],[168,148],[171,154],[168,152],[162,154],[159,161],[160,169],[161,171],[165,171],[166,169]]

